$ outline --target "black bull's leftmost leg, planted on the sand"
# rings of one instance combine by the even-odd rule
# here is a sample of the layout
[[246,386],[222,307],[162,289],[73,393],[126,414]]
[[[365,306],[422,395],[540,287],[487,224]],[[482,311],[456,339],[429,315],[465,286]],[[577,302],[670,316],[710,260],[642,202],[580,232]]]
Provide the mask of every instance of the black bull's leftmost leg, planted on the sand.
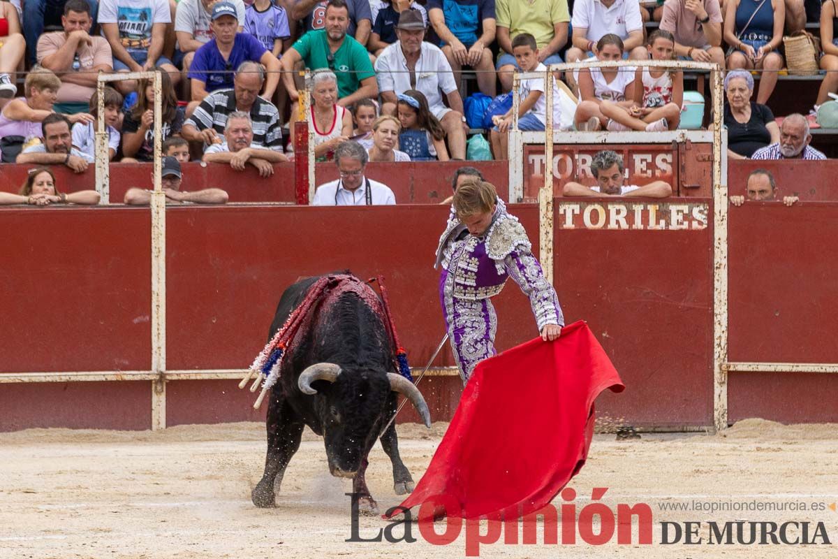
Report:
[[297,419],[284,398],[271,392],[271,405],[267,411],[267,456],[265,474],[251,492],[253,504],[258,507],[276,505],[275,487],[282,485],[282,476],[291,457],[300,448],[303,422]]

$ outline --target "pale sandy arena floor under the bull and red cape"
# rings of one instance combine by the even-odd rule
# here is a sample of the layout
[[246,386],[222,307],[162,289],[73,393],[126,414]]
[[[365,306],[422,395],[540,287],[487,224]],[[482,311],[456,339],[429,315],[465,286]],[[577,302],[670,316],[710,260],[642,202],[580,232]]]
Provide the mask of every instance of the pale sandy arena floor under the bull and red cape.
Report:
[[[401,454],[418,480],[446,424],[400,426]],[[504,546],[484,557],[836,557],[838,512],[702,512],[661,510],[696,501],[829,505],[838,501],[836,425],[784,427],[749,420],[721,435],[644,435],[617,442],[597,435],[571,486],[577,510],[592,487],[603,502],[648,503],[654,545]],[[0,557],[463,557],[465,530],[449,546],[347,543],[349,481],[328,475],[323,443],[307,432],[292,460],[279,506],[256,509],[251,487],[261,477],[264,427],[256,423],[173,427],[165,432],[29,430],[0,434]],[[390,461],[376,446],[367,479],[381,510],[401,499]],[[558,503],[556,503],[558,505]],[[799,505],[796,505],[799,506]],[[819,506],[819,505],[815,505]],[[822,521],[832,545],[685,546],[660,543],[661,521]],[[370,537],[385,523],[360,520]],[[442,532],[442,527],[439,528]],[[814,531],[814,524],[811,531]],[[706,536],[706,525],[701,528]],[[501,542],[503,537],[501,537]],[[580,541],[577,539],[577,541]],[[636,539],[635,539],[636,541]],[[540,539],[541,542],[541,539]]]

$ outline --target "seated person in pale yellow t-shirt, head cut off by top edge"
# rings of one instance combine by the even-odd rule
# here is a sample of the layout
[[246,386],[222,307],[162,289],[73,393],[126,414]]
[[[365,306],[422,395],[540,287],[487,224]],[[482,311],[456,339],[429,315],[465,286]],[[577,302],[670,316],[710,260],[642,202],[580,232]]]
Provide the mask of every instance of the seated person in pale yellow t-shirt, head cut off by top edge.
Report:
[[[582,3],[582,0],[577,0],[577,3]],[[512,89],[512,72],[518,67],[512,52],[512,39],[518,34],[529,33],[535,37],[539,62],[544,65],[563,62],[559,51],[567,43],[567,23],[571,19],[567,0],[495,0],[494,12],[500,47],[496,68],[502,91]],[[576,23],[573,27],[575,32]]]

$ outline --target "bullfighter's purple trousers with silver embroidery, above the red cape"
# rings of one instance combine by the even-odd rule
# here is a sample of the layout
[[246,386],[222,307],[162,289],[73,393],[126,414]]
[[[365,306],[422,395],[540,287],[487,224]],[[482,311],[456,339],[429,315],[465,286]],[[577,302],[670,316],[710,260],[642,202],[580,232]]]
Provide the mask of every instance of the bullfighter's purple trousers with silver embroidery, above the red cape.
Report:
[[497,354],[494,334],[498,329],[498,317],[489,299],[452,298],[446,304],[446,311],[454,359],[468,382],[480,361]]

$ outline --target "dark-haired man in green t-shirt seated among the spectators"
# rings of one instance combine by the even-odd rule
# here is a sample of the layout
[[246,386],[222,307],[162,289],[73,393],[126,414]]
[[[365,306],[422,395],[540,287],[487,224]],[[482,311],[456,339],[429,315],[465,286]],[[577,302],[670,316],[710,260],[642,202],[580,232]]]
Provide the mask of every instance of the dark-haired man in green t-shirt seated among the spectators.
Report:
[[378,84],[370,56],[358,41],[346,34],[349,8],[344,0],[329,0],[326,27],[308,31],[282,54],[282,80],[292,101],[299,94],[294,83],[294,65],[300,60],[309,70],[327,69],[338,76],[338,105],[350,106],[361,99],[375,99]]

